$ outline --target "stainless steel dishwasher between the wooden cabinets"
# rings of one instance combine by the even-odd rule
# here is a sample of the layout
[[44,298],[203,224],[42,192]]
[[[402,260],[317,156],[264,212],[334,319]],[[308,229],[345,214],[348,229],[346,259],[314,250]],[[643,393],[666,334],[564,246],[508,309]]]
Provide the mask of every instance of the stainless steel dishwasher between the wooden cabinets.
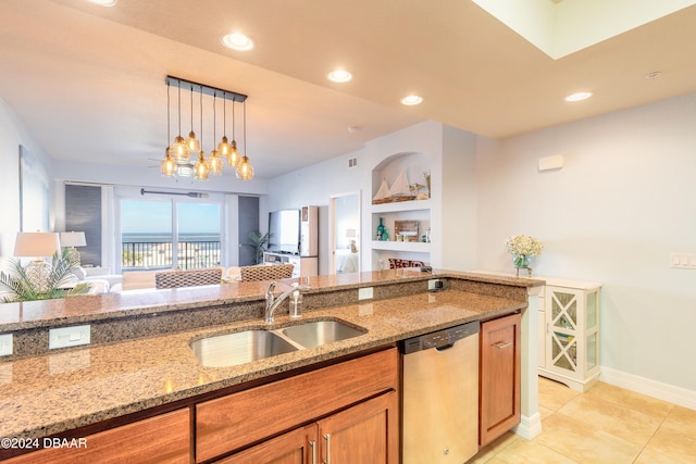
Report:
[[478,322],[403,340],[403,464],[462,464],[478,450]]

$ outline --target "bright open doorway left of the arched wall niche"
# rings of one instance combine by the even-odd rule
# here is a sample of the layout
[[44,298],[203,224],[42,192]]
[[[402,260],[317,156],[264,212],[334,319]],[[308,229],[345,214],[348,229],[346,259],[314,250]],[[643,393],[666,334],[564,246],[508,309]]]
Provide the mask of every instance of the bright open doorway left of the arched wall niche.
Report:
[[360,272],[360,191],[332,195],[328,205],[331,274]]

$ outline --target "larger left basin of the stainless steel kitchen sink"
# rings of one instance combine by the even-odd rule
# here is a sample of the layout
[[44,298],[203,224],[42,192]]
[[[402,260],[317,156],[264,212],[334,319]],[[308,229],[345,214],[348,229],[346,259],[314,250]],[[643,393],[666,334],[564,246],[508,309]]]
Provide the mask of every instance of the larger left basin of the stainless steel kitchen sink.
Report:
[[194,341],[191,349],[206,367],[236,366],[297,351],[287,340],[269,330],[245,330],[202,338]]

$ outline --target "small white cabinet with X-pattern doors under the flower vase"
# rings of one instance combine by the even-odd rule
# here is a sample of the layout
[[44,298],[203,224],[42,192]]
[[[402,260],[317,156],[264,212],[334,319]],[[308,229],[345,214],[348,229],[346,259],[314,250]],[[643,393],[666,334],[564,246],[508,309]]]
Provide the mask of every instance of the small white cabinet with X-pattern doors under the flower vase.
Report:
[[599,378],[597,283],[547,279],[539,375],[585,391]]

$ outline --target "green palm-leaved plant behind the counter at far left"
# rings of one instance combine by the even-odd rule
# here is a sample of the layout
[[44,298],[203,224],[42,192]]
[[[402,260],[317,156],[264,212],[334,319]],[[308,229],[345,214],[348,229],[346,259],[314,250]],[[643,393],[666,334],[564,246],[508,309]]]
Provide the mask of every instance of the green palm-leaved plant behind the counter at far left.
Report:
[[53,254],[51,268],[40,286],[36,285],[20,260],[10,261],[8,273],[0,272],[0,292],[3,303],[17,301],[51,300],[53,298],[72,297],[89,291],[89,284],[82,283],[69,287],[74,281],[73,262],[70,250]]

